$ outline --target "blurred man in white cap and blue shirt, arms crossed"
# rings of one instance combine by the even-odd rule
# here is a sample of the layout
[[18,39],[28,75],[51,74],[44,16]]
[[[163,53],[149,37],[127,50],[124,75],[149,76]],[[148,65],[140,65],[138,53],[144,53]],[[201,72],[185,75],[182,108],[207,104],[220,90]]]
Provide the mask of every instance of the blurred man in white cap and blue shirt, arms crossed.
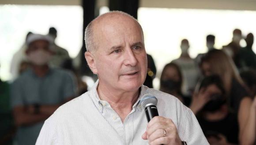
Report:
[[11,84],[11,107],[18,127],[15,136],[18,145],[34,145],[44,121],[61,104],[75,97],[73,75],[48,65],[52,43],[49,36],[28,36],[26,55],[31,69]]

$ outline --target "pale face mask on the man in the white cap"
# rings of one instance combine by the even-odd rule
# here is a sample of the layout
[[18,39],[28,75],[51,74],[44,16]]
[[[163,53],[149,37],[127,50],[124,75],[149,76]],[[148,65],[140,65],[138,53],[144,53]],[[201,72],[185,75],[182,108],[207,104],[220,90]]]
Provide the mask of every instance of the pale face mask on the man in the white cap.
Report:
[[48,51],[42,49],[32,51],[27,55],[28,60],[34,65],[45,65],[51,59],[51,54]]

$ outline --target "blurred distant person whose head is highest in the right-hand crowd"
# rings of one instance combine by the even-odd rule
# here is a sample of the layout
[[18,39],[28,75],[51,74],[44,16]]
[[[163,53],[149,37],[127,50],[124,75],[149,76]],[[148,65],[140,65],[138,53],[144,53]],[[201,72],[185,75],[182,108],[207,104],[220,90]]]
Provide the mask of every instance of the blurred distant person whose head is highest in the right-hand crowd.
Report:
[[241,39],[242,31],[240,29],[234,29],[232,41],[228,45],[223,46],[223,50],[233,59],[238,69],[241,68],[241,62],[239,58],[239,51],[241,50]]

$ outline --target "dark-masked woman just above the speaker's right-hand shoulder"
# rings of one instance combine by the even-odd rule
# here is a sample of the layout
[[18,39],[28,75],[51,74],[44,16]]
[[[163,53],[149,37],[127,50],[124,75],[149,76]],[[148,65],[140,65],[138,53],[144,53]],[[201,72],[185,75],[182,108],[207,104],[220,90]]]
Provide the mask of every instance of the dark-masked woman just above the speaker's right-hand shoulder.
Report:
[[162,70],[160,77],[160,91],[172,94],[177,97],[184,105],[189,106],[190,97],[184,96],[181,92],[182,86],[181,70],[175,63],[168,63]]

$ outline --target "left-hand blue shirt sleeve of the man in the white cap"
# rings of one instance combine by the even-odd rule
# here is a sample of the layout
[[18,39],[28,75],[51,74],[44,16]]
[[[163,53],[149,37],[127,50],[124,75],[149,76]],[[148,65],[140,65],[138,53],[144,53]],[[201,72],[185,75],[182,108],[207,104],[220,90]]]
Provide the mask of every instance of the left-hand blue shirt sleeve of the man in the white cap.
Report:
[[24,105],[22,94],[22,85],[19,80],[15,80],[11,84],[11,108]]

